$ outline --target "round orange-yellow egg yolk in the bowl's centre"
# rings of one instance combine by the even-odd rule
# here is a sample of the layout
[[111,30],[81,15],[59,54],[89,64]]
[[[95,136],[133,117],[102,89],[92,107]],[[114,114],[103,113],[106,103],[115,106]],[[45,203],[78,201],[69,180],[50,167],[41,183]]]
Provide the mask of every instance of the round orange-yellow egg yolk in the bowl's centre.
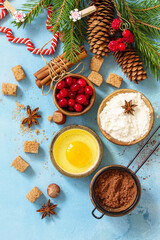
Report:
[[85,167],[91,159],[91,150],[83,142],[72,142],[66,150],[67,160],[76,167]]

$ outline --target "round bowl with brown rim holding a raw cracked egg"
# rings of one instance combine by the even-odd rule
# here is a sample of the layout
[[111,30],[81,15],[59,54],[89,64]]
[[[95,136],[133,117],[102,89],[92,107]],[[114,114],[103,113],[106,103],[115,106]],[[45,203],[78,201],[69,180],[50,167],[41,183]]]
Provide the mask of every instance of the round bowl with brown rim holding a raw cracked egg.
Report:
[[103,155],[100,138],[90,128],[71,125],[61,129],[50,145],[50,157],[63,175],[82,178],[93,173]]

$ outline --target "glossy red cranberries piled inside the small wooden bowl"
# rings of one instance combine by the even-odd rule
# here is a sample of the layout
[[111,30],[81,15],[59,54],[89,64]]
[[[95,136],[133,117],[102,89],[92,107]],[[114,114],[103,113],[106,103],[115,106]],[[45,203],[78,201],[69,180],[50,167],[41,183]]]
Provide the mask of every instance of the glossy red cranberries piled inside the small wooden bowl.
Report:
[[93,89],[83,78],[66,77],[57,83],[58,105],[70,112],[82,112],[90,103]]

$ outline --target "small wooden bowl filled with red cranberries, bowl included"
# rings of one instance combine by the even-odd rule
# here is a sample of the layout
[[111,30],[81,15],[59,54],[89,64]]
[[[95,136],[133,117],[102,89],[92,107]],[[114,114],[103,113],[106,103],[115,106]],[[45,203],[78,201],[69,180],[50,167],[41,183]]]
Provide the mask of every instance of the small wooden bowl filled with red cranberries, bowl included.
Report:
[[88,112],[95,102],[93,84],[83,75],[69,74],[56,83],[53,100],[65,115],[80,116]]

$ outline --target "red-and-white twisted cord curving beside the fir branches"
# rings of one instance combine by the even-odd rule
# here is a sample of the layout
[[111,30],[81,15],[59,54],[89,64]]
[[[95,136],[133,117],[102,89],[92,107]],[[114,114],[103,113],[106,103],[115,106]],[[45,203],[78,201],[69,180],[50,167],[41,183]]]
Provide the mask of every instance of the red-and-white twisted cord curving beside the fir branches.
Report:
[[[1,10],[1,12],[0,12],[0,20],[1,20],[7,15],[7,11],[6,11],[6,9],[3,5],[3,0],[0,0],[0,10]],[[53,30],[51,30],[52,25],[49,25],[49,20],[51,18],[51,14],[52,14],[52,9],[51,9],[51,7],[48,7],[48,16],[47,16],[47,21],[46,21],[46,28],[47,28],[47,30],[50,30],[52,32],[53,31]],[[59,33],[56,33],[53,36],[50,49],[41,50],[41,48],[35,48],[32,41],[29,38],[14,37],[13,32],[10,28],[0,26],[0,32],[4,33],[6,35],[9,42],[18,43],[18,44],[25,44],[27,46],[28,51],[30,51],[33,54],[38,54],[38,55],[40,53],[42,55],[52,55],[56,50],[57,43],[58,43],[58,38],[59,38]]]

